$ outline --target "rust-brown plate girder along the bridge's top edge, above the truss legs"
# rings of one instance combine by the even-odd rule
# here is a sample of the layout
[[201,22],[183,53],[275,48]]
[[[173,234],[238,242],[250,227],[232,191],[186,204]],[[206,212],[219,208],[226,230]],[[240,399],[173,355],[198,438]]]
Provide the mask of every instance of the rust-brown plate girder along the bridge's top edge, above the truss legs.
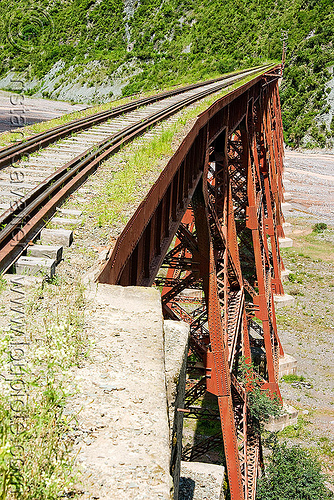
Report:
[[[134,216],[130,219],[124,228],[121,236],[116,242],[116,246],[102,270],[99,281],[104,283],[119,283],[132,285],[150,286],[157,276],[158,270],[167,253],[167,249],[176,230],[181,222],[181,219],[188,208],[192,193],[199,182],[204,169],[204,158],[206,154],[207,143],[211,143],[218,136],[224,126],[221,125],[222,117],[226,114],[230,103],[234,112],[230,116],[230,128],[233,130],[244,117],[242,110],[247,105],[248,92],[254,92],[260,95],[263,75],[259,75],[248,83],[238,87],[223,98],[217,100],[212,106],[204,111],[199,117],[182,142],[178,151],[168,162],[166,168],[162,172],[158,181],[152,186],[146,198],[139,205]],[[191,160],[195,156],[194,162]],[[185,163],[187,162],[187,163]],[[185,165],[189,165],[189,169],[185,169]],[[184,177],[192,178],[192,187],[184,183]],[[154,236],[156,225],[161,227],[159,220],[159,210],[168,206],[168,198],[171,197],[170,213],[164,213],[165,220],[169,221],[170,227],[168,238],[162,238],[164,252],[160,250],[159,245],[153,248],[152,244],[147,253],[144,253],[143,268],[146,270],[146,275],[133,276],[129,281],[129,276],[125,276],[130,266],[130,261],[136,259],[135,252],[139,250],[138,245],[143,245],[142,240],[145,239],[144,232],[148,239],[148,233]],[[160,205],[160,207],[159,207]],[[157,219],[157,220],[156,220]],[[158,239],[158,235],[156,236]],[[150,240],[151,242],[153,239]],[[150,268],[148,270],[148,267]],[[143,273],[143,268],[141,269]]]

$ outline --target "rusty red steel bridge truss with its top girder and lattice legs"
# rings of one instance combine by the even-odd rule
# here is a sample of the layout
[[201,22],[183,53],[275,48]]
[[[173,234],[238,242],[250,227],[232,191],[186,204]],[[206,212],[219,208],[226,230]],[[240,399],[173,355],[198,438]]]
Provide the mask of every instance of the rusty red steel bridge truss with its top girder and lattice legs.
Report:
[[203,377],[186,408],[196,412],[191,405],[205,391],[217,396],[232,500],[255,499],[261,466],[237,379],[241,360],[252,360],[263,389],[280,397],[273,294],[283,293],[281,72],[257,76],[198,117],[99,276],[161,286],[165,316],[190,324]]

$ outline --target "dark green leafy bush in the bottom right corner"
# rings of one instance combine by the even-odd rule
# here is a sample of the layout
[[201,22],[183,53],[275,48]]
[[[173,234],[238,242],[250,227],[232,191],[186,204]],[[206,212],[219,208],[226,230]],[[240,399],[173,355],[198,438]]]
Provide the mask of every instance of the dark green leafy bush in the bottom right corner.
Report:
[[321,465],[299,446],[275,443],[265,475],[259,480],[257,500],[327,500],[333,498],[325,487]]

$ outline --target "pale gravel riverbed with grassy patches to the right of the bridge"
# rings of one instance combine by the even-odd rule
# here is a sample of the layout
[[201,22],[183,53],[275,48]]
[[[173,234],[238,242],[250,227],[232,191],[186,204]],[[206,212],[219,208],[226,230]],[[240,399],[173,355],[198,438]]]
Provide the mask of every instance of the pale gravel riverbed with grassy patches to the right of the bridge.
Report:
[[[334,490],[334,152],[286,151],[285,167],[293,247],[282,251],[292,273],[284,289],[295,301],[277,318],[283,347],[304,381],[281,382],[283,398],[300,411],[298,425],[281,438],[313,449]],[[313,232],[318,222],[328,229]]]

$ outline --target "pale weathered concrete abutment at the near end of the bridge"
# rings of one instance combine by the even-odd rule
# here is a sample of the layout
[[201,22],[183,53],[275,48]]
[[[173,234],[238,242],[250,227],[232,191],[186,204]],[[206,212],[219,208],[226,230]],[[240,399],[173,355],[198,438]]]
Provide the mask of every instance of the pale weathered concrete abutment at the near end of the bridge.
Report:
[[177,499],[189,325],[163,320],[154,288],[98,284],[88,302],[92,362],[67,408],[83,498]]

